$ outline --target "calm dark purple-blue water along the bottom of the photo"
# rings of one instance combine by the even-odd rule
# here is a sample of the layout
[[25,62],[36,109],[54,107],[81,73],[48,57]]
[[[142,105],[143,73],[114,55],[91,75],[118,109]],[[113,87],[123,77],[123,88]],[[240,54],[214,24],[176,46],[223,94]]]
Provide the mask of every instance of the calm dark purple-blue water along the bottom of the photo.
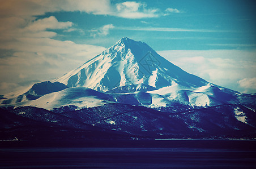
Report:
[[243,148],[0,148],[0,157],[0,168],[256,168],[255,149]]

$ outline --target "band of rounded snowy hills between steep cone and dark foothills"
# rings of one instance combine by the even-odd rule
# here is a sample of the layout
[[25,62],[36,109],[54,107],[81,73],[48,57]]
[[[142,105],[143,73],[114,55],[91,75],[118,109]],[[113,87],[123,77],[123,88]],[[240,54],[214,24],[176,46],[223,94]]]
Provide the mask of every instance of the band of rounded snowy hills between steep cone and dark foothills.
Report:
[[[28,93],[29,92],[26,92],[25,94]],[[35,93],[35,91],[32,93]],[[74,105],[78,108],[88,108],[104,105],[106,103],[121,103],[141,105],[148,108],[160,108],[169,106],[173,107],[176,106],[177,103],[178,105],[183,104],[188,106],[241,104],[240,100],[242,100],[238,100],[236,95],[231,95],[221,91],[218,87],[210,83],[206,86],[198,88],[188,88],[175,84],[173,86],[167,86],[160,89],[146,86],[141,83],[137,85],[134,84],[129,86],[116,87],[113,90],[106,92],[105,94],[103,92],[98,92],[86,87],[71,87],[43,96],[37,96],[39,98],[33,100],[29,99],[29,95],[21,96],[23,97],[23,100],[18,102],[18,98],[14,98],[12,100],[14,103],[10,103],[9,105],[32,105],[48,110],[69,105]],[[28,96],[29,98],[26,99]],[[248,97],[245,98],[248,99]],[[248,105],[248,108],[254,111],[253,105],[255,104]]]

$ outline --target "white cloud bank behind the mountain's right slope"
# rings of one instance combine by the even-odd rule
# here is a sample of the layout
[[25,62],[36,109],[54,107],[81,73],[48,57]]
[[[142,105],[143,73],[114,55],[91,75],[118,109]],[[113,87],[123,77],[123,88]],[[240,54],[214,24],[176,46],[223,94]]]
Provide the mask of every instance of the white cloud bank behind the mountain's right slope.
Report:
[[180,66],[186,72],[206,81],[240,92],[255,92],[252,83],[241,86],[241,79],[251,79],[256,74],[256,51],[206,50],[159,51],[161,56]]

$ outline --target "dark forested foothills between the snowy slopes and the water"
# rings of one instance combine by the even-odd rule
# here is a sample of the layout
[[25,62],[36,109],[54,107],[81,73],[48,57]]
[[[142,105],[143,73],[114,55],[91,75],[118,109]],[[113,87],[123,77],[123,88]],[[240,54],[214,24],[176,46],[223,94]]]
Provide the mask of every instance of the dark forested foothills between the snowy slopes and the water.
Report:
[[[235,116],[231,111],[233,109],[237,110]],[[239,114],[240,111],[244,114]],[[2,114],[13,120],[6,121],[4,126],[0,126],[0,132],[3,133],[0,139],[113,139],[117,138],[117,134],[121,139],[253,139],[256,131],[256,114],[236,104],[183,112],[159,112],[130,104],[105,104],[64,112],[25,106],[8,111],[0,109],[0,116]],[[243,121],[243,115],[250,118]],[[37,123],[40,126],[36,126]],[[31,136],[29,126],[33,127],[33,134],[44,131],[44,135]],[[45,129],[42,128],[44,126]],[[47,137],[48,130],[54,132],[55,136],[51,134]],[[66,134],[62,135],[62,132]]]

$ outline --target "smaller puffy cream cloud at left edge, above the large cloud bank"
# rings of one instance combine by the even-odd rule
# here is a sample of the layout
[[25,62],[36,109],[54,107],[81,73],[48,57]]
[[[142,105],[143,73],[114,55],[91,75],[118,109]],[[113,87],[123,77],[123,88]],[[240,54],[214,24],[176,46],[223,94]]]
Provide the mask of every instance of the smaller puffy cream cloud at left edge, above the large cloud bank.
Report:
[[57,33],[48,31],[48,29],[70,29],[72,23],[59,22],[56,17],[50,16],[39,20],[27,20],[19,17],[8,17],[0,19],[0,48],[7,48],[12,46],[12,43],[19,42],[19,38],[50,38],[57,35]]

